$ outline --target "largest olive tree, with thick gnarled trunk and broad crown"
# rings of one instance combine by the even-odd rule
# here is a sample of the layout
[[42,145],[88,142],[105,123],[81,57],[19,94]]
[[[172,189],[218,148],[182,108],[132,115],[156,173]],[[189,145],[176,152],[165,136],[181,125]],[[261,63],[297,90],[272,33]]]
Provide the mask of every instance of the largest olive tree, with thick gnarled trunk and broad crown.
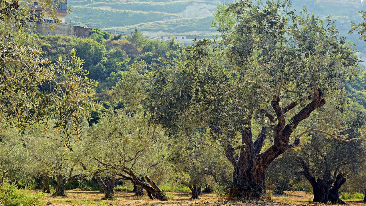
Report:
[[357,74],[353,45],[334,22],[290,6],[288,0],[219,6],[213,26],[222,40],[195,41],[181,59],[157,66],[150,80],[152,119],[171,135],[199,122],[220,142],[234,167],[233,198],[265,193],[269,164],[300,146],[296,128],[327,101],[341,109],[343,82]]

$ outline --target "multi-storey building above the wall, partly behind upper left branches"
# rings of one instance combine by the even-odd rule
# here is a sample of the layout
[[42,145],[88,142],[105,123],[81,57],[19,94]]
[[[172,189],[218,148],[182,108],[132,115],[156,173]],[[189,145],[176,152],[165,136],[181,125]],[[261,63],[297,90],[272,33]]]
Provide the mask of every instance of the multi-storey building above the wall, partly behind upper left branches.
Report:
[[[57,19],[61,23],[65,23],[65,17],[67,15],[67,0],[54,1],[53,8],[57,10]],[[43,11],[42,0],[33,0],[33,10],[38,21],[43,21],[45,23],[54,22],[57,19],[52,18],[47,12]]]

